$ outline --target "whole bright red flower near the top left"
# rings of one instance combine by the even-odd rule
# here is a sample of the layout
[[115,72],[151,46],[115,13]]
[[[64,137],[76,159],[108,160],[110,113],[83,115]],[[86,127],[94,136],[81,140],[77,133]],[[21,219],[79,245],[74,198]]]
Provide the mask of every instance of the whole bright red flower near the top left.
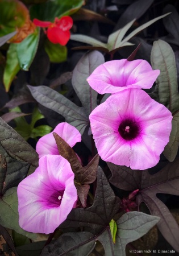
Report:
[[53,44],[65,46],[70,38],[70,28],[73,26],[73,19],[70,16],[55,18],[55,22],[45,22],[39,19],[33,20],[38,27],[47,27],[47,37]]

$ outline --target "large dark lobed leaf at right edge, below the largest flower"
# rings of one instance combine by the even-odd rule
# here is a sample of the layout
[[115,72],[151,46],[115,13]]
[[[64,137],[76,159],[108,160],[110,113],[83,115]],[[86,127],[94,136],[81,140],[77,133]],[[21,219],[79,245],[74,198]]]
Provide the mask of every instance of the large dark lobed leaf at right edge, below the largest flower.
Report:
[[128,167],[108,163],[113,174],[110,178],[110,183],[127,191],[139,189],[139,193],[136,196],[138,204],[140,205],[141,202],[144,202],[152,215],[161,218],[157,226],[176,251],[179,251],[179,227],[169,209],[156,195],[157,193],[179,195],[178,163],[179,160],[175,160],[153,175],[150,175],[148,170],[131,170]]

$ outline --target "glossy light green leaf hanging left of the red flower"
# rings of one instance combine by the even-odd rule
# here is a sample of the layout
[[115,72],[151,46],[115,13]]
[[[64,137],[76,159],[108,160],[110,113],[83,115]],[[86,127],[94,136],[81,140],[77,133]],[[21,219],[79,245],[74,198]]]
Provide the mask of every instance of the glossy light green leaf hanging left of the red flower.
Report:
[[[34,60],[36,51],[38,49],[40,38],[40,28],[36,28],[34,33],[30,34],[21,43],[17,44],[17,56],[20,68],[28,71],[32,61]],[[28,50],[27,50],[28,49]]]

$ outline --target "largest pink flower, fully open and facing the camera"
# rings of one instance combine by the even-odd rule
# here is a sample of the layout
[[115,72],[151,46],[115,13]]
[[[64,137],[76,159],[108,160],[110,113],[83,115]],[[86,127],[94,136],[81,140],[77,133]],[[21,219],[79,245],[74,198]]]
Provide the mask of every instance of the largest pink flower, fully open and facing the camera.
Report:
[[155,166],[172,129],[172,114],[143,90],[116,93],[90,114],[98,154],[131,169]]

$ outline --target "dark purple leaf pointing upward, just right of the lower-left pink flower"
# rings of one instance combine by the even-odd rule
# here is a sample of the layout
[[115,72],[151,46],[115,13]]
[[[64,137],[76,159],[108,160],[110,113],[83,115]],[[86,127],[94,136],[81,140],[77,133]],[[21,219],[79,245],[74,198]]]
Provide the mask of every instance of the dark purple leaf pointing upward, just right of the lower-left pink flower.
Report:
[[114,195],[105,174],[101,167],[98,167],[97,190],[93,205],[85,209],[72,209],[60,228],[83,227],[84,231],[98,234],[109,225],[119,208],[119,197]]

